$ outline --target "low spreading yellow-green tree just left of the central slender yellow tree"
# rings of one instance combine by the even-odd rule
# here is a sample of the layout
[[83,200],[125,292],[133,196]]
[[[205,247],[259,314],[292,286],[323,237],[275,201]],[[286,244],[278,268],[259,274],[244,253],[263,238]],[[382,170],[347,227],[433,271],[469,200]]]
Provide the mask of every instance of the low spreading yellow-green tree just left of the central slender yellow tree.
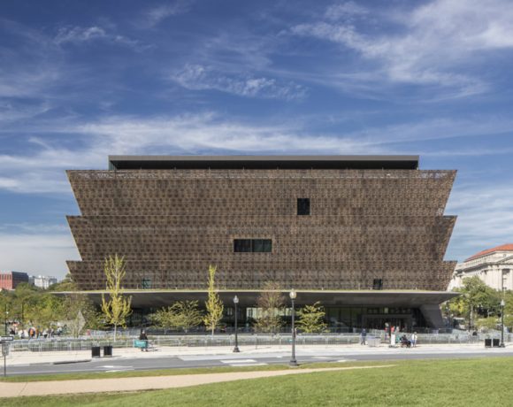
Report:
[[172,306],[162,308],[150,316],[157,326],[182,328],[185,332],[203,321],[197,301],[178,301]]

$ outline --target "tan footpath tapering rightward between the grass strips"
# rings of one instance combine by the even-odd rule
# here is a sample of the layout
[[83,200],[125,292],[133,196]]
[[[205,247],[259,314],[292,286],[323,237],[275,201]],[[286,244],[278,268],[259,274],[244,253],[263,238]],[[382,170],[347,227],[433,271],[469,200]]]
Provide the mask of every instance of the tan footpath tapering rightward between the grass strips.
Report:
[[[353,369],[376,369],[394,365],[332,367],[325,369],[289,369],[264,372],[230,372],[187,374],[176,376],[154,376],[118,379],[87,379],[32,381],[24,383],[0,382],[0,397],[19,397],[21,395],[69,395],[78,393],[103,393],[122,391],[157,390],[163,388],[186,388],[208,383],[220,383],[233,380],[248,380],[263,377],[285,376],[312,372],[332,372]],[[0,399],[1,400],[1,399]]]

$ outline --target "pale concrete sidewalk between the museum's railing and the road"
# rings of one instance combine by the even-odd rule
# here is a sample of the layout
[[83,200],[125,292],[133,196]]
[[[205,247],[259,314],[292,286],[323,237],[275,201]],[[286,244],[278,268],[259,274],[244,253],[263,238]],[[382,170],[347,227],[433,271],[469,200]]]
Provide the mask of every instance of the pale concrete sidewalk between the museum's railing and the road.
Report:
[[[254,346],[240,347],[241,353],[237,355],[247,355],[257,357],[258,355],[270,354],[287,354],[290,352],[290,346],[260,346],[257,349]],[[351,354],[366,354],[366,355],[391,355],[402,354],[404,352],[421,353],[421,354],[447,354],[458,352],[482,352],[485,348],[483,344],[436,344],[436,345],[419,345],[417,348],[389,348],[387,345],[382,344],[379,347],[367,347],[358,344],[350,345],[301,345],[296,346],[296,353],[298,357],[311,356],[312,354],[322,356],[326,354],[335,354],[344,357]],[[506,348],[486,349],[490,353],[499,353],[503,355],[513,356],[513,347],[507,346]],[[119,358],[159,358],[159,357],[192,357],[203,356],[219,357],[230,356],[234,357],[233,347],[165,347],[155,349],[155,351],[142,352],[140,349],[134,348],[115,348],[113,349],[112,359]],[[104,358],[103,360],[108,360]],[[17,351],[11,352],[7,357],[8,366],[28,366],[28,365],[51,365],[61,363],[80,363],[91,360],[90,350],[77,350],[77,351],[55,351],[55,352],[30,352],[30,351]]]

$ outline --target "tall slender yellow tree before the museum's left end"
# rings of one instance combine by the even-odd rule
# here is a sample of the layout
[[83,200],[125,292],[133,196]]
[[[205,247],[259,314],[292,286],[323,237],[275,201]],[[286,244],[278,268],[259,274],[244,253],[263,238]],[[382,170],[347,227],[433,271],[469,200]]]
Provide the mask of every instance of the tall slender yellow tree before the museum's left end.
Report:
[[114,257],[109,256],[105,259],[103,271],[107,279],[110,300],[106,301],[102,294],[102,312],[107,324],[114,326],[114,341],[116,341],[118,326],[126,326],[126,317],[132,313],[130,308],[132,297],[123,296],[121,287],[126,274],[124,257],[119,257],[117,254]]

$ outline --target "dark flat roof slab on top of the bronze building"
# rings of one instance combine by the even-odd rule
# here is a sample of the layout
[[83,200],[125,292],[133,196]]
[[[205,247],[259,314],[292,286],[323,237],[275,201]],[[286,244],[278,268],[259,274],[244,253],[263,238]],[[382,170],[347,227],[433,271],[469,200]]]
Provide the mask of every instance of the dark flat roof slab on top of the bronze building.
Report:
[[110,170],[417,170],[418,156],[109,156]]

